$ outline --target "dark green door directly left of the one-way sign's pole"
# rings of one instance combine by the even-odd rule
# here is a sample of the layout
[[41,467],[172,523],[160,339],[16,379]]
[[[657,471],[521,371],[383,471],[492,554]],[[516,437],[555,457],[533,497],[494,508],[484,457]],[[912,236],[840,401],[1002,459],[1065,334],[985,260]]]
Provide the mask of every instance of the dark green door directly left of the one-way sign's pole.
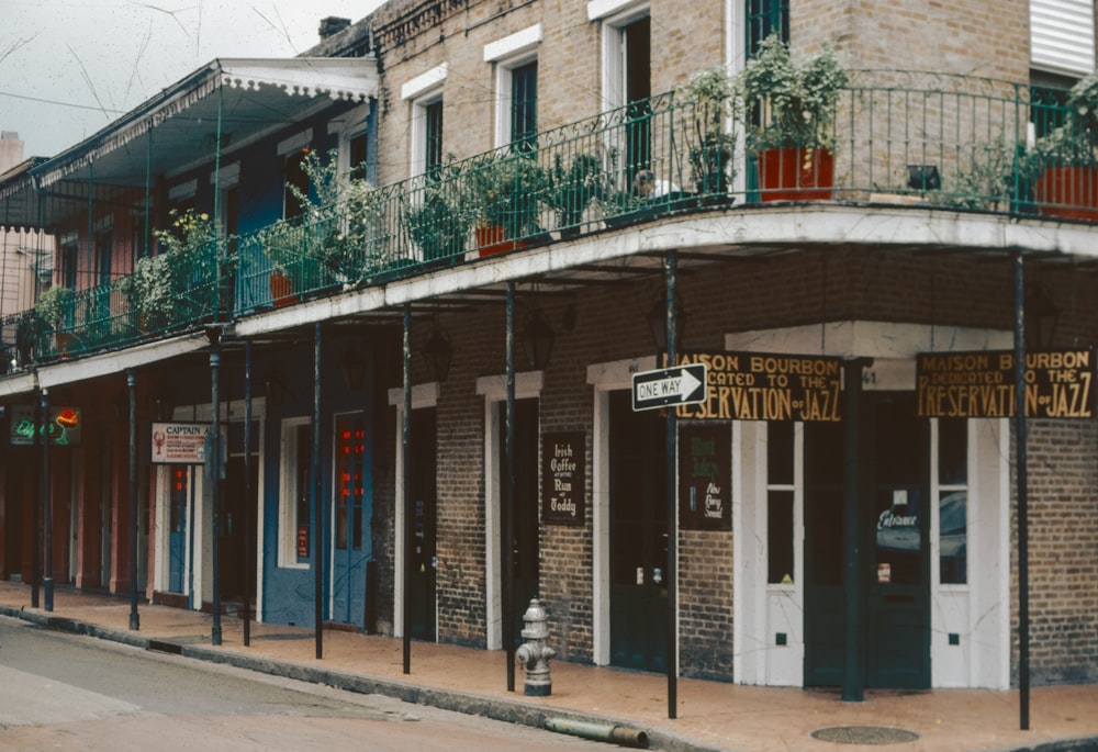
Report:
[[666,670],[665,425],[610,393],[610,662],[647,671]]

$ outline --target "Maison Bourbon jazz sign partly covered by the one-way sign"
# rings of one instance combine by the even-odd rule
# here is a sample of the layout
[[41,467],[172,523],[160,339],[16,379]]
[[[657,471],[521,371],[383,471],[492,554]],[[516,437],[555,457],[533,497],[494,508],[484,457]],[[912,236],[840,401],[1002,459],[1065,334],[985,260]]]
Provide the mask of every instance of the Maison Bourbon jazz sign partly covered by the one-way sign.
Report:
[[841,419],[838,358],[765,352],[684,352],[679,364],[705,363],[705,402],[680,405],[681,418],[713,420]]

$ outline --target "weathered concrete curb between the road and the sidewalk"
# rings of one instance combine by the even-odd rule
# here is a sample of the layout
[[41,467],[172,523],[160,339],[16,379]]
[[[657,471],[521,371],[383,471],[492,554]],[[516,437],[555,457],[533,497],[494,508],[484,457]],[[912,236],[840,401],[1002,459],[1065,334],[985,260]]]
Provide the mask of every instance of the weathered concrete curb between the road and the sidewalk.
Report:
[[[413,705],[425,705],[428,707],[439,708],[441,710],[452,710],[455,712],[461,712],[469,716],[481,716],[492,720],[518,723],[542,730],[546,729],[546,721],[550,718],[564,718],[570,721],[621,726],[625,728],[638,727],[635,721],[621,718],[582,714],[564,708],[547,708],[541,705],[525,703],[518,699],[485,697],[483,695],[456,692],[452,689],[428,687],[414,684],[412,682],[396,682],[376,676],[368,676],[366,674],[355,674],[332,669],[305,666],[300,663],[289,663],[285,661],[276,661],[269,658],[246,655],[231,650],[219,650],[204,646],[182,644],[172,640],[148,638],[130,631],[105,629],[93,624],[78,621],[63,616],[53,616],[37,610],[26,610],[24,608],[12,608],[0,605],[0,616],[8,616],[23,621],[29,621],[45,629],[67,632],[70,635],[82,635],[101,640],[110,640],[112,642],[119,642],[142,650],[166,652],[192,660],[221,663],[282,678],[310,682],[312,684],[325,684],[336,687],[337,689],[345,689],[347,692],[355,692],[358,694],[384,695],[386,697],[393,697]],[[648,734],[649,743],[652,749],[663,750],[664,752],[729,752],[726,748],[698,744],[695,741],[671,733],[663,729],[643,728],[641,730]]]

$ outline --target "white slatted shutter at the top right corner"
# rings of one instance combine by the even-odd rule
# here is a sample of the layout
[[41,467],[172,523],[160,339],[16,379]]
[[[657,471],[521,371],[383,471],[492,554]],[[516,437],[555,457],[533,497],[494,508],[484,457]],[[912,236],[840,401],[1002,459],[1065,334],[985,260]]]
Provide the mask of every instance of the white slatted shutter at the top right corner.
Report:
[[1075,76],[1095,69],[1094,0],[1030,0],[1034,68]]

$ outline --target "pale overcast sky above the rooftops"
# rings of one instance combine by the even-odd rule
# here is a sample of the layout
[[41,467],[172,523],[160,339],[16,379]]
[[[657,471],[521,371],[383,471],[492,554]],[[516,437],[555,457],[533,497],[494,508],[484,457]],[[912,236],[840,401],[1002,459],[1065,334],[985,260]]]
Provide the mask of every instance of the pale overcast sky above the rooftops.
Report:
[[51,157],[219,57],[293,57],[384,0],[0,0],[0,131]]

